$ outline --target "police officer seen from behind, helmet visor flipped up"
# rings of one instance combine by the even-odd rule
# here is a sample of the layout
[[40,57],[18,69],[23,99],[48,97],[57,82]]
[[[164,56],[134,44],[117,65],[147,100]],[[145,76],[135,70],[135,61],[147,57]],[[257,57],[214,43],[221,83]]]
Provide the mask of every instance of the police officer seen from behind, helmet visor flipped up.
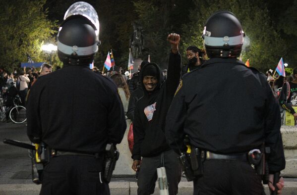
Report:
[[86,2],[72,4],[58,34],[63,68],[31,88],[27,134],[51,151],[41,195],[109,195],[103,178],[106,145],[119,144],[126,129],[117,87],[89,69],[98,50],[99,21]]

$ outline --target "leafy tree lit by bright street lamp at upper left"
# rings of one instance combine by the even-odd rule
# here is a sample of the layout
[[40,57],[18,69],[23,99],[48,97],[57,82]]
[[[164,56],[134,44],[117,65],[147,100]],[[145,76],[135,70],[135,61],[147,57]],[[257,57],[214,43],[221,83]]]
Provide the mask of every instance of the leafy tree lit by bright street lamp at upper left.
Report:
[[26,53],[34,61],[45,61],[40,49],[47,42],[54,42],[57,31],[55,22],[46,18],[43,11],[46,0],[1,0],[0,17],[0,68],[13,71],[21,62],[27,62]]

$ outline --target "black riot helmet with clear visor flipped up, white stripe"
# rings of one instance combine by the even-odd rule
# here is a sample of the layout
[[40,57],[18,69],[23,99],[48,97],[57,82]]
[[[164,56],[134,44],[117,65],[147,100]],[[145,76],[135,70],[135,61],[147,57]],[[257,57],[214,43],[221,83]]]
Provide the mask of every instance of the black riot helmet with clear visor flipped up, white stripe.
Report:
[[99,45],[99,20],[87,2],[73,3],[64,15],[58,33],[58,56],[64,64],[89,65]]

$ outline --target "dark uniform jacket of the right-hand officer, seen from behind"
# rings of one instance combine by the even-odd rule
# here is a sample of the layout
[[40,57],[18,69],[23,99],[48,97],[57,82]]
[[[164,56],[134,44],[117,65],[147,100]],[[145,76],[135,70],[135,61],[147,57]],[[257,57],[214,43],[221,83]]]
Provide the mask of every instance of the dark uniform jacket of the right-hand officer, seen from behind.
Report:
[[285,168],[281,117],[265,75],[236,59],[211,58],[185,74],[168,111],[166,138],[176,152],[193,146],[221,154],[271,147],[270,172]]

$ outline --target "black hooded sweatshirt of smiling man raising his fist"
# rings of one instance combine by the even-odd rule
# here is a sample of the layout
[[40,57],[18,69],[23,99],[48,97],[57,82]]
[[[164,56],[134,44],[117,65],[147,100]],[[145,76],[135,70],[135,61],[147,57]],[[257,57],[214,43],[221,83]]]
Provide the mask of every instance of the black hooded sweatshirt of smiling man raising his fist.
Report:
[[[139,160],[141,156],[155,156],[170,149],[164,133],[165,118],[178,87],[181,71],[180,54],[171,52],[168,64],[166,81],[163,79],[159,66],[155,64],[159,69],[159,75],[158,85],[153,93],[149,94],[141,82],[144,96],[136,102],[133,121],[134,146],[132,158],[134,160]],[[142,72],[146,65],[141,69],[140,81],[143,80]]]

